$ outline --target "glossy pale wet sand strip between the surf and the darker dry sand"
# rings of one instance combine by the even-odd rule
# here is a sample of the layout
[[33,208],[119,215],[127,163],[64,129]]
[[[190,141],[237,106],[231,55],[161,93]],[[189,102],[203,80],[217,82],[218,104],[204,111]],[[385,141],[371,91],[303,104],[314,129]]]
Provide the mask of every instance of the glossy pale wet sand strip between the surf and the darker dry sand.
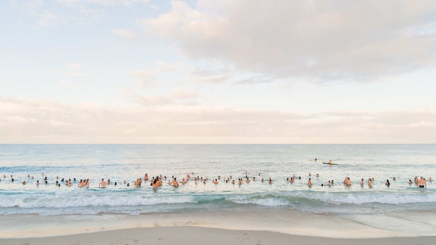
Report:
[[[332,239],[436,237],[434,212],[403,213],[400,216],[369,216],[351,220],[328,213],[310,213],[287,208],[244,210],[220,209],[194,212],[161,212],[141,215],[55,215],[20,214],[1,216],[0,243],[4,239],[39,239],[84,235],[129,229],[192,227],[233,231],[264,231],[286,235]],[[382,218],[382,219],[380,219]],[[382,223],[384,222],[384,223]],[[412,222],[415,223],[412,225]],[[419,223],[417,223],[419,222]],[[386,226],[397,224],[396,227]],[[418,229],[419,228],[419,229]],[[25,243],[25,242],[24,242]]]

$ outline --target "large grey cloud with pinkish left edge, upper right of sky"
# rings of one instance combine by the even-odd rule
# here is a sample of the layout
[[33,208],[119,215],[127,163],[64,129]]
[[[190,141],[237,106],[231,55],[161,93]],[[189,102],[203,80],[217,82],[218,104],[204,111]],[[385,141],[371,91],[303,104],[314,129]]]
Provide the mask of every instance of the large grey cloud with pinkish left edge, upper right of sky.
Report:
[[369,81],[436,63],[432,1],[173,1],[142,23],[187,57],[275,79]]

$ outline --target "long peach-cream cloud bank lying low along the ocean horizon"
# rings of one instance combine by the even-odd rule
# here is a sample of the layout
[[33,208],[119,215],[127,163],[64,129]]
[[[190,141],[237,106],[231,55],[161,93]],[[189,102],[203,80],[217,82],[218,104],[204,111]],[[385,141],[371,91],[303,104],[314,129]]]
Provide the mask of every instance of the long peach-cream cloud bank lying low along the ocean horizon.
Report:
[[[173,100],[195,98],[174,91]],[[164,97],[164,96],[162,96]],[[155,101],[163,99],[155,98]],[[63,104],[0,97],[0,143],[434,143],[436,111],[298,114],[155,103]]]

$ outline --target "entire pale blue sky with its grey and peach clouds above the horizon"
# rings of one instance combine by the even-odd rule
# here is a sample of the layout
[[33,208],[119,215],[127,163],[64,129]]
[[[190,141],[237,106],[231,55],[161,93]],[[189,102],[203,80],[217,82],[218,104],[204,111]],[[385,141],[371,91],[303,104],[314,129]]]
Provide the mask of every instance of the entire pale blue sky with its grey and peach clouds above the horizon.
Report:
[[436,143],[435,1],[5,0],[0,143]]

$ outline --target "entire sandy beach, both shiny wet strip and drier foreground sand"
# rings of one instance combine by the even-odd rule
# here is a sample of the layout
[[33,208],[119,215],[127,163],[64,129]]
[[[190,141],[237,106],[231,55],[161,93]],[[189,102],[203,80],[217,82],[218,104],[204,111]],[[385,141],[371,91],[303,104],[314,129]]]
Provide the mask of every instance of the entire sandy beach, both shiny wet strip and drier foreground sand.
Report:
[[428,212],[390,219],[387,222],[399,226],[389,230],[377,227],[385,223],[373,217],[364,224],[280,208],[225,210],[6,215],[0,222],[0,244],[434,244],[436,240],[436,224],[429,218],[433,213]]

